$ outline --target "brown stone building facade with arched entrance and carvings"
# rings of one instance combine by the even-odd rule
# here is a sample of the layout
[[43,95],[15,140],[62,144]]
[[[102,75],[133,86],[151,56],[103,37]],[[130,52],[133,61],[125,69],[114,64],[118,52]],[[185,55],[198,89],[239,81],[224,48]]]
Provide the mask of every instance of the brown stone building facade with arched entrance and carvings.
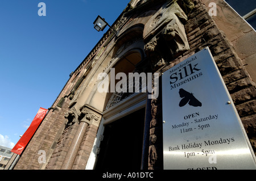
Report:
[[117,34],[108,30],[70,75],[14,169],[163,169],[162,82],[148,99],[154,92],[100,92],[98,75],[161,75],[205,47],[256,151],[255,31],[224,1],[131,0],[112,27]]

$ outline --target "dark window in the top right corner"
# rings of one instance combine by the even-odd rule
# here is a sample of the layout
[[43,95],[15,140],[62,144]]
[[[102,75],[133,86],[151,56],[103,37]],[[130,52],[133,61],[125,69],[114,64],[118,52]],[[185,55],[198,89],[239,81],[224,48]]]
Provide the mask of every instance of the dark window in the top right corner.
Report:
[[256,1],[255,0],[225,0],[243,19],[256,30]]

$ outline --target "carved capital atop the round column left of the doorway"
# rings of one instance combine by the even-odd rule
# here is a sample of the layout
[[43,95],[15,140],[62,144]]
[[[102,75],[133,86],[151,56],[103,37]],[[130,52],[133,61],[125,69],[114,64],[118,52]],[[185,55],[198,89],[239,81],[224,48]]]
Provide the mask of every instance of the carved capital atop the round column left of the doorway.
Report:
[[88,107],[81,108],[81,113],[79,115],[80,122],[98,125],[100,124],[100,120],[101,120],[101,115],[96,111]]

